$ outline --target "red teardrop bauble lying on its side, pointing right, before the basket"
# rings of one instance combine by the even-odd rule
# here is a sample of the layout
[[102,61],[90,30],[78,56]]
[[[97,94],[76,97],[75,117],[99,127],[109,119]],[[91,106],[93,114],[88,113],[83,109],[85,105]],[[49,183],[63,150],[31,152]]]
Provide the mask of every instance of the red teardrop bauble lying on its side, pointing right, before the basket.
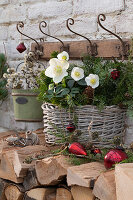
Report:
[[84,147],[78,142],[74,142],[69,146],[69,152],[76,155],[87,155]]

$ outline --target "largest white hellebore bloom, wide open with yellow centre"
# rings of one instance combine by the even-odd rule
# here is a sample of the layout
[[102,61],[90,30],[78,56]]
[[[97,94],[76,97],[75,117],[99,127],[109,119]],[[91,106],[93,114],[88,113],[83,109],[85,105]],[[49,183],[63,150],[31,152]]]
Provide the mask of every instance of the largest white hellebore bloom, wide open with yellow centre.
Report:
[[46,69],[45,75],[53,78],[55,83],[59,83],[62,79],[68,75],[66,71],[69,68],[69,63],[64,60],[64,62],[58,60],[57,58],[52,58],[49,61],[50,66]]

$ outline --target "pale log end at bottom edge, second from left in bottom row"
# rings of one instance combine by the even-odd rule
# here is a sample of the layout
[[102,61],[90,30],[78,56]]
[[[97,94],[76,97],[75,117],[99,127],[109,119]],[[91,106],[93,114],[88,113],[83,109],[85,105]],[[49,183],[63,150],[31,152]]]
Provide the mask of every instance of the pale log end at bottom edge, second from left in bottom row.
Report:
[[34,188],[25,195],[25,200],[44,200],[49,194],[55,192],[54,188]]

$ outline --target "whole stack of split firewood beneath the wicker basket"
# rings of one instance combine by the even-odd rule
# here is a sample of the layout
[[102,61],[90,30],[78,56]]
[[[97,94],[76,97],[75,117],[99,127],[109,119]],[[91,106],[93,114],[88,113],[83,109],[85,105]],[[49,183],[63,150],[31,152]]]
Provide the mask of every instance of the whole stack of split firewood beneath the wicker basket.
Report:
[[133,164],[107,171],[99,162],[74,166],[63,155],[37,159],[47,151],[2,147],[0,200],[132,200]]

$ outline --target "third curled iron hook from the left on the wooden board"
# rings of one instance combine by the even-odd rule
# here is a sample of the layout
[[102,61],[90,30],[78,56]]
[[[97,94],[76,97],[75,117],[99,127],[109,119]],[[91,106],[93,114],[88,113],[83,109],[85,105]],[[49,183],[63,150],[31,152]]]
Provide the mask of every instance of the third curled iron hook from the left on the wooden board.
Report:
[[[70,21],[71,21],[71,22],[70,22]],[[85,36],[83,36],[83,35],[81,35],[81,34],[79,34],[79,33],[76,33],[75,31],[73,31],[73,30],[69,27],[69,25],[74,25],[74,19],[73,19],[73,18],[68,18],[68,19],[66,20],[66,26],[67,26],[68,30],[69,30],[70,32],[76,34],[76,35],[79,35],[79,36],[85,38],[85,39],[89,42],[89,44],[90,44],[90,54],[91,54],[92,56],[97,55],[96,44],[93,45],[92,42],[91,42],[87,37],[85,37]]]

